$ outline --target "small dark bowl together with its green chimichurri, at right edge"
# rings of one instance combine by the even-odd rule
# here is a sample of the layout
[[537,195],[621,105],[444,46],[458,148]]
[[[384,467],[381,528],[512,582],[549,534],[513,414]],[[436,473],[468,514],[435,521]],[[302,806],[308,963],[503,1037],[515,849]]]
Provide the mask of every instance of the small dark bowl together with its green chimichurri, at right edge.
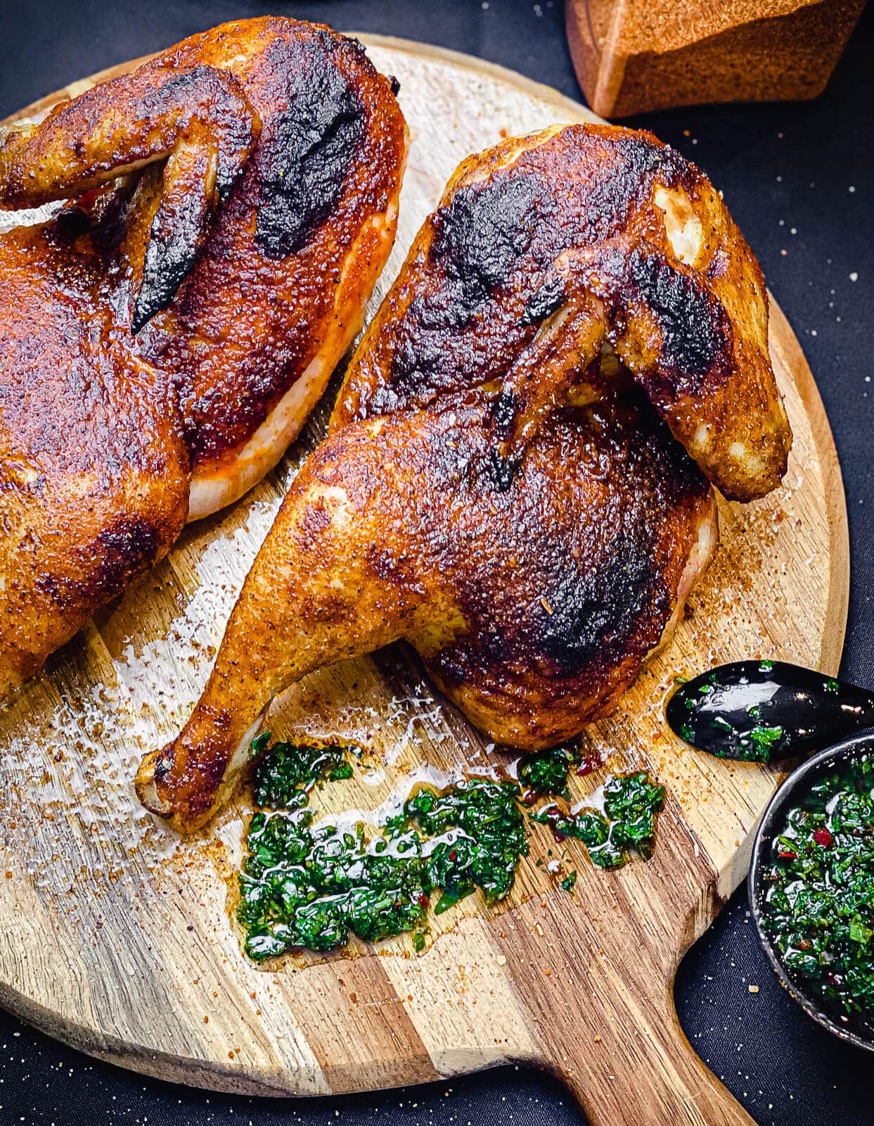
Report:
[[813,756],[762,820],[749,899],[765,953],[805,1012],[874,1051],[874,736]]

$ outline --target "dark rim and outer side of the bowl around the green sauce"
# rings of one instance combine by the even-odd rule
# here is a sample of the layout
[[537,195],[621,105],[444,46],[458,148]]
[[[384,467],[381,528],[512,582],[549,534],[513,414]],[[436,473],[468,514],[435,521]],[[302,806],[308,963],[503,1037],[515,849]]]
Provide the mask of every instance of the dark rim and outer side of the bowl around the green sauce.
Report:
[[839,1036],[843,1040],[848,1040],[861,1048],[874,1052],[874,1034],[867,1035],[849,1018],[844,1022],[839,1016],[825,1011],[819,1002],[810,998],[804,992],[803,986],[790,976],[789,971],[780,960],[769,936],[762,926],[765,892],[767,891],[764,873],[772,861],[772,841],[782,829],[786,813],[796,804],[798,797],[819,778],[835,769],[840,769],[850,759],[865,753],[865,751],[874,753],[874,734],[872,733],[855,735],[843,743],[836,743],[835,747],[828,747],[825,751],[819,751],[819,753],[813,754],[783,780],[768,803],[767,808],[762,815],[759,826],[756,830],[753,858],[749,864],[749,875],[747,877],[747,892],[762,948],[767,955],[768,962],[777,975],[781,985],[817,1024],[822,1025],[823,1028],[828,1028],[830,1033]]

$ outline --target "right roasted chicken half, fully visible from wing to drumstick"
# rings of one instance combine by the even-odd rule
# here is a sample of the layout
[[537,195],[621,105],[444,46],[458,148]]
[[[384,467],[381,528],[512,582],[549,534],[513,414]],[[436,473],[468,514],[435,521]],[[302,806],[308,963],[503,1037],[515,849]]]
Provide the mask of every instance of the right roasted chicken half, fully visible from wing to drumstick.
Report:
[[696,168],[592,126],[470,158],[359,345],[193,715],[143,760],[141,799],[201,824],[276,694],[398,638],[497,742],[576,734],[708,565],[708,477],[759,497],[790,443],[762,272]]

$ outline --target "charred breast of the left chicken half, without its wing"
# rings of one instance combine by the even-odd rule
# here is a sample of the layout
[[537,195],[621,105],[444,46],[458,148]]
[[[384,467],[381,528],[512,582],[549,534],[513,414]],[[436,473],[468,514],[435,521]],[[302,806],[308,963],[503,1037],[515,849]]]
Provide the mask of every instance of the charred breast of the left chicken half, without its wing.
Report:
[[175,69],[242,69],[261,135],[175,301],[142,333],[143,355],[178,379],[196,479],[220,485],[229,464],[236,494],[250,462],[258,480],[297,436],[361,329],[406,158],[389,80],[360,44],[294,20],[240,26],[243,44],[226,26],[171,53]]

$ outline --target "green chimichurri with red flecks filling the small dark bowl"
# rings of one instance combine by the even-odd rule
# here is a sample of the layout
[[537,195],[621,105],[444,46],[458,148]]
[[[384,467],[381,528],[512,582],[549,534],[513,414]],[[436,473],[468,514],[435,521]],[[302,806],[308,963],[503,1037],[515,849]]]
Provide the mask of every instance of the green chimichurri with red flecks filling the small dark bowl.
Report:
[[763,927],[790,975],[874,1025],[874,756],[817,781],[773,842]]

